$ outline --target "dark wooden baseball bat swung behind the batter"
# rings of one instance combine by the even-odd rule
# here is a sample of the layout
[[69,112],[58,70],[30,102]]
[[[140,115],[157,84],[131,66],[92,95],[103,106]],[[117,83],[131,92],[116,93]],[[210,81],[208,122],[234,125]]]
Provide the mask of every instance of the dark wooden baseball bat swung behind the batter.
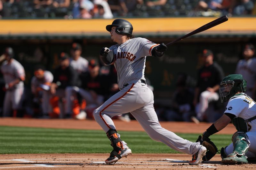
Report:
[[227,15],[224,15],[224,16],[222,16],[220,18],[217,18],[217,19],[209,22],[208,24],[205,24],[205,25],[197,28],[196,30],[192,31],[191,33],[188,33],[188,34],[186,34],[186,35],[184,35],[184,36],[182,36],[182,37],[180,37],[180,38],[178,38],[178,39],[176,39],[176,40],[174,40],[172,42],[169,42],[169,43],[167,43],[165,45],[168,46],[168,45],[171,45],[171,44],[173,44],[173,43],[175,43],[177,41],[180,41],[180,40],[182,40],[184,38],[187,38],[187,37],[189,37],[191,35],[194,35],[194,34],[197,34],[197,33],[201,33],[203,31],[208,30],[208,29],[210,29],[210,28],[212,28],[214,26],[217,26],[217,25],[219,25],[219,24],[221,24],[223,22],[226,22],[227,20],[228,20]]

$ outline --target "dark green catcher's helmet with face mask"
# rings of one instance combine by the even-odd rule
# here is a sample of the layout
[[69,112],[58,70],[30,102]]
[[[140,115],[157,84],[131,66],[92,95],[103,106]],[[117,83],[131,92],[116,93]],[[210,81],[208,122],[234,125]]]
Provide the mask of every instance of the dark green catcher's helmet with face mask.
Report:
[[245,92],[247,82],[241,74],[230,74],[220,83],[220,100],[228,101],[237,92]]

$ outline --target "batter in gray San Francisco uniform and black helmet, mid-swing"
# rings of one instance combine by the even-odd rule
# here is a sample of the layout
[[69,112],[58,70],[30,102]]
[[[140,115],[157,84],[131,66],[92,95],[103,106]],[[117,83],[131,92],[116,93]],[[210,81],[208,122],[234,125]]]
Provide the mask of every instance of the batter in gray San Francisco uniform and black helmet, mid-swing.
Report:
[[132,153],[120,138],[111,119],[113,116],[130,112],[153,140],[163,142],[176,151],[194,155],[189,162],[190,165],[200,163],[206,148],[200,145],[200,142],[190,142],[161,127],[153,106],[153,92],[148,88],[144,78],[146,56],[160,57],[167,46],[145,38],[134,38],[132,24],[124,19],[115,19],[111,25],[106,26],[106,29],[111,40],[117,44],[109,49],[102,48],[100,56],[107,65],[114,64],[120,91],[93,113],[113,147],[105,162],[114,163]]

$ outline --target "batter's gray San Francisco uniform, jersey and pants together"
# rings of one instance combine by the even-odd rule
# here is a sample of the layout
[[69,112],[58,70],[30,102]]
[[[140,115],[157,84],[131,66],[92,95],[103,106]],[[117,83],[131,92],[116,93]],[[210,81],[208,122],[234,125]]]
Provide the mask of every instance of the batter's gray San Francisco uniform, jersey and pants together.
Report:
[[[107,132],[116,129],[113,116],[131,113],[152,139],[177,151],[195,154],[201,148],[200,143],[190,142],[161,127],[154,109],[153,92],[139,81],[145,80],[146,56],[151,55],[157,45],[145,38],[134,38],[109,48],[114,53],[120,91],[94,111],[94,119]],[[122,142],[123,148],[127,148]]]

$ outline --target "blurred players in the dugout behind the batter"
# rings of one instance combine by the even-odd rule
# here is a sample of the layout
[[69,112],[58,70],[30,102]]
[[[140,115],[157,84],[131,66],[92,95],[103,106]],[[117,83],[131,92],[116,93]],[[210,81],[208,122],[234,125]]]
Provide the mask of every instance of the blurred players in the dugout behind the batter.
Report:
[[[93,118],[94,109],[119,91],[116,69],[105,65],[100,57],[88,60],[82,57],[79,43],[73,43],[70,49],[69,53],[58,54],[58,66],[53,71],[46,70],[44,65],[34,66],[31,86],[26,90],[23,82],[28,67],[14,59],[11,47],[5,48],[0,56],[3,76],[0,114],[4,117]],[[254,46],[246,44],[242,55],[236,70],[230,71],[243,75],[247,80],[246,94],[255,100]],[[202,66],[197,70],[196,81],[181,72],[170,96],[171,103],[155,106],[160,121],[215,122],[224,113],[226,103],[220,102],[219,95],[220,82],[225,76],[223,69],[215,62],[210,49],[204,49],[199,60]],[[116,118],[129,122],[133,117],[127,113]]]

